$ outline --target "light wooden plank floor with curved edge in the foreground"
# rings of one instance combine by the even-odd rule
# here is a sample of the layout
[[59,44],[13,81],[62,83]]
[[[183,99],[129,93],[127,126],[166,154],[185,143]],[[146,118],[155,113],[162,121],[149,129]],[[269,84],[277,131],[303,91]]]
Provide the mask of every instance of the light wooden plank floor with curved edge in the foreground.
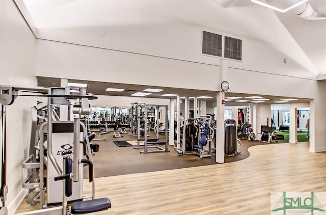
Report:
[[270,214],[270,192],[325,191],[326,153],[308,147],[259,145],[234,163],[97,178],[96,197],[112,208],[94,214]]

